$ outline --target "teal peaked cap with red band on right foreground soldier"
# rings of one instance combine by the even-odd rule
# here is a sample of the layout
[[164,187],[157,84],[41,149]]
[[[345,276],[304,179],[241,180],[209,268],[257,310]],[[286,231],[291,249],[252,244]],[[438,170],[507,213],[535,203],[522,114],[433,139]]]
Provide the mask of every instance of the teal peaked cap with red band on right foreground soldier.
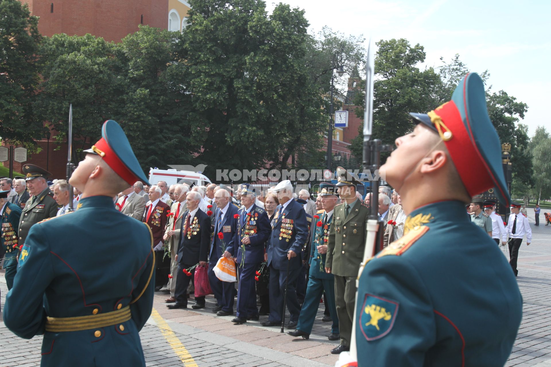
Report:
[[501,144],[488,116],[484,83],[478,74],[467,74],[453,91],[451,101],[428,114],[410,115],[444,140],[469,195],[495,188],[499,201],[509,206]]

